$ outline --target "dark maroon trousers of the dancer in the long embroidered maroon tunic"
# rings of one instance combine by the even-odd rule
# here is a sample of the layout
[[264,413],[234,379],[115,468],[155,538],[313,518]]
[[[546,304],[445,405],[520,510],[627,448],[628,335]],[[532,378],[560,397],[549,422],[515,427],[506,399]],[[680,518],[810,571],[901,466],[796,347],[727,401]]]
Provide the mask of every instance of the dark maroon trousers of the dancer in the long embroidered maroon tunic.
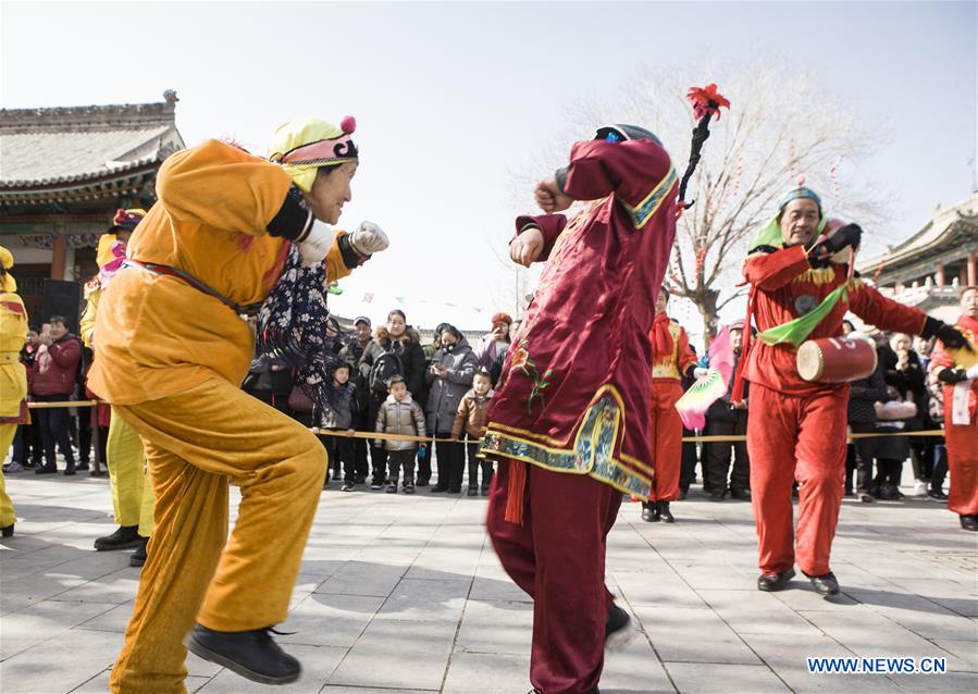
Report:
[[504,520],[511,464],[500,460],[486,529],[503,568],[533,598],[530,682],[543,694],[597,686],[605,660],[605,543],[621,492],[581,474],[528,466],[523,524]]

